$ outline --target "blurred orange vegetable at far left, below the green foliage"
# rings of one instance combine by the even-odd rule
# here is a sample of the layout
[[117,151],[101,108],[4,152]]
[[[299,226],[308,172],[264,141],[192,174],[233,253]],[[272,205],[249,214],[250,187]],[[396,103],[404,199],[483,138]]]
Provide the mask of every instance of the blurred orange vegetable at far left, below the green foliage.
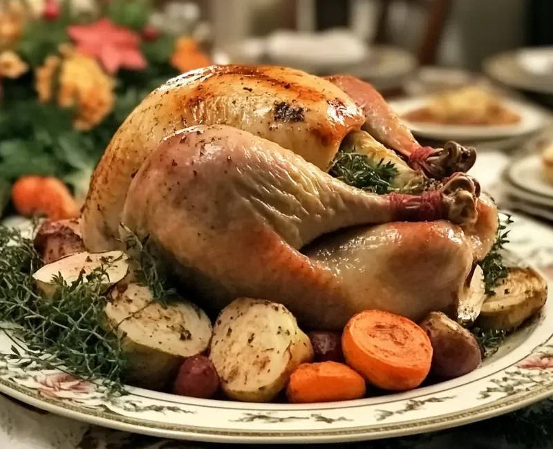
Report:
[[79,207],[66,185],[57,178],[29,175],[12,186],[12,202],[23,216],[44,214],[50,220],[79,216]]

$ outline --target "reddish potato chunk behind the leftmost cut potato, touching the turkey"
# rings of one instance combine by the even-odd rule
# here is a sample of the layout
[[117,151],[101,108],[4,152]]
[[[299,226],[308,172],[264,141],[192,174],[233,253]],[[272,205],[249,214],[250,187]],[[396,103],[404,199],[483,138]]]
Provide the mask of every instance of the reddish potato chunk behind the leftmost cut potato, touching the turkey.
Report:
[[35,236],[35,249],[46,264],[85,251],[79,220],[45,221]]

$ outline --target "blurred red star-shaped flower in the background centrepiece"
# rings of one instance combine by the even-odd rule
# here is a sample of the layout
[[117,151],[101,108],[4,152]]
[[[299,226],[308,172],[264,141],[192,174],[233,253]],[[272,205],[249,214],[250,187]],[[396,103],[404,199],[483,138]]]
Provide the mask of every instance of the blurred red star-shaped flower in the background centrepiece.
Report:
[[91,25],[73,25],[67,32],[78,52],[98,59],[109,73],[116,73],[120,68],[142,70],[147,66],[140,52],[138,34],[115,25],[110,19],[100,19]]

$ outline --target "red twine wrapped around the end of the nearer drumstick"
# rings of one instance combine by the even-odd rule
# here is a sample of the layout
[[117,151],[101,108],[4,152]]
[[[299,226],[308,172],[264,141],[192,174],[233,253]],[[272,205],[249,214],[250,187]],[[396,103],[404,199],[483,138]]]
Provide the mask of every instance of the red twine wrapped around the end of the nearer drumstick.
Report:
[[423,192],[421,195],[390,193],[390,206],[395,220],[433,221],[444,218],[444,201],[439,191]]

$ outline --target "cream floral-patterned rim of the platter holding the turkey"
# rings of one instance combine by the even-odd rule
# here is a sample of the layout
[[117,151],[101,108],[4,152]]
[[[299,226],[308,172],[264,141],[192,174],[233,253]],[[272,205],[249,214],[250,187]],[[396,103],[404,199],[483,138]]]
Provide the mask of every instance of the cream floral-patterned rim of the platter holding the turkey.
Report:
[[[0,331],[0,392],[64,417],[171,439],[328,443],[399,437],[480,421],[553,395],[551,298],[541,316],[467,376],[341,403],[237,403],[131,387],[129,394],[110,397],[101,385],[21,366],[21,359],[10,358],[13,345],[8,332]],[[24,353],[21,346],[16,350]]]

